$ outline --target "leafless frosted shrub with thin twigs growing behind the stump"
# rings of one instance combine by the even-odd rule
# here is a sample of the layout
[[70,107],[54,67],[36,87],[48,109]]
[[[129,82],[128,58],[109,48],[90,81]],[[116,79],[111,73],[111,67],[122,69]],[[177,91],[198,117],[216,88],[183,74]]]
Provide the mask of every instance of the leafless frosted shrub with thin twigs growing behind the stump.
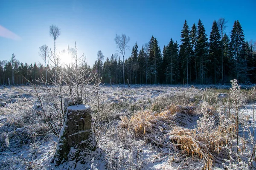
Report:
[[69,96],[75,104],[90,104],[91,98],[96,95],[101,78],[92,73],[84,65],[81,57],[77,56],[77,48],[68,48],[69,54],[75,63],[66,68],[55,68],[55,74],[45,84],[43,76],[33,85],[36,96],[41,106],[38,114],[42,116],[52,133],[59,136],[64,123],[64,97]]

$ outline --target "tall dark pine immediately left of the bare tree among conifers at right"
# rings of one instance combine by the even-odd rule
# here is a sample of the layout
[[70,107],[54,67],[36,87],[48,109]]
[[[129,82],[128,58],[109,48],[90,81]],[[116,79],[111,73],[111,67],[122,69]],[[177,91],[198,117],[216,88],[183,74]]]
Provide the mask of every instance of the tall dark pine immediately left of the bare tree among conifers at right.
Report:
[[[212,31],[210,33],[209,38],[209,59],[210,59],[210,65],[208,66],[208,69],[210,69],[210,72],[214,72],[214,84],[217,83],[217,74],[219,69],[219,62],[221,58],[221,35],[218,30],[218,25],[216,21],[213,21],[212,23]],[[214,63],[213,69],[211,69],[212,62]]]

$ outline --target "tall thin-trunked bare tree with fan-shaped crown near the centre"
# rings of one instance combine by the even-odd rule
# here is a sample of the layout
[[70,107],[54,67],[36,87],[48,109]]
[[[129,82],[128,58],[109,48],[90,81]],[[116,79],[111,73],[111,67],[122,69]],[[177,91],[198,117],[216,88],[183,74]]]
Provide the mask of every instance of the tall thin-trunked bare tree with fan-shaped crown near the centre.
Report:
[[116,38],[114,39],[116,42],[116,46],[118,47],[118,52],[122,54],[123,57],[123,82],[125,85],[125,50],[129,48],[128,42],[130,41],[130,37],[126,37],[125,34],[122,36],[116,34]]

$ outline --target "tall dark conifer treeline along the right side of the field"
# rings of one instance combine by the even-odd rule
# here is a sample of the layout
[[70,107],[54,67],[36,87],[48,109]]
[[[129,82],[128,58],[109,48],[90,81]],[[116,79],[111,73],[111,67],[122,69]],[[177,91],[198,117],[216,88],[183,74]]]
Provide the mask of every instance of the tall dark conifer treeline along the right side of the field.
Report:
[[[152,36],[139,50],[137,42],[131,56],[125,59],[125,80],[131,84],[223,84],[230,79],[256,83],[256,51],[244,40],[239,21],[235,21],[230,36],[225,33],[226,20],[212,23],[209,38],[201,20],[191,29],[185,20],[181,44],[172,38],[161,52]],[[99,52],[98,52],[99,54]],[[118,55],[107,57],[100,51],[92,69],[105,83],[122,83],[122,60]]]

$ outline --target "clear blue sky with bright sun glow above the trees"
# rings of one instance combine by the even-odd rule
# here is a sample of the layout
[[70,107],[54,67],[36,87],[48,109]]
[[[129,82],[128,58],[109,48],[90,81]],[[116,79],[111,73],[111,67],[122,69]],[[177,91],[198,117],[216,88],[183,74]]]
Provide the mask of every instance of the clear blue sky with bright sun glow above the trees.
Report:
[[116,53],[115,34],[131,38],[125,57],[136,41],[141,48],[152,35],[161,50],[171,38],[180,42],[185,19],[191,28],[200,18],[208,37],[213,20],[226,18],[227,34],[239,20],[245,39],[256,40],[255,10],[256,0],[0,0],[0,60],[14,53],[20,62],[43,63],[38,51],[44,44],[53,48],[52,24],[61,29],[57,51],[76,41],[79,54],[86,54],[91,66],[98,50],[105,59]]

